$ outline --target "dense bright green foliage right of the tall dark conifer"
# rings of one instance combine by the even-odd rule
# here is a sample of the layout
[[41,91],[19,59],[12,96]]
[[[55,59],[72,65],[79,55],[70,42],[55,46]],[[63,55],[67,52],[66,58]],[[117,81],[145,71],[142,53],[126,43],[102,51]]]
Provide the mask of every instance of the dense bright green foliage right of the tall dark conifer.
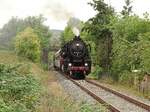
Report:
[[111,30],[113,77],[118,79],[119,74],[125,70],[131,72],[134,69],[142,69],[148,72],[150,21],[138,16],[115,17],[112,19]]

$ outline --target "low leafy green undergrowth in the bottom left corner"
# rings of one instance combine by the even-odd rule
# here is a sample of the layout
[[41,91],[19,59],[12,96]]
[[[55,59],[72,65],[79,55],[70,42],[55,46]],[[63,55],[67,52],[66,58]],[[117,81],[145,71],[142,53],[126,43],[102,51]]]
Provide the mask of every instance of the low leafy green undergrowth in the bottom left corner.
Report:
[[19,73],[20,65],[0,64],[0,112],[34,111],[40,85],[30,73]]

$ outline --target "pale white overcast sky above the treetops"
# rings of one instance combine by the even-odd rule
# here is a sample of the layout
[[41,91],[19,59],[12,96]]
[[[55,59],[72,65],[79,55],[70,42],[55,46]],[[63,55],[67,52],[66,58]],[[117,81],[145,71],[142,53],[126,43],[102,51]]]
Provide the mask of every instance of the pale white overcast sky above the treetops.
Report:
[[[0,28],[12,16],[24,18],[42,14],[51,29],[64,29],[72,16],[86,21],[96,12],[87,3],[91,0],[0,0]],[[124,0],[105,0],[117,12],[122,10]],[[150,0],[132,0],[133,11],[138,15],[150,12]]]

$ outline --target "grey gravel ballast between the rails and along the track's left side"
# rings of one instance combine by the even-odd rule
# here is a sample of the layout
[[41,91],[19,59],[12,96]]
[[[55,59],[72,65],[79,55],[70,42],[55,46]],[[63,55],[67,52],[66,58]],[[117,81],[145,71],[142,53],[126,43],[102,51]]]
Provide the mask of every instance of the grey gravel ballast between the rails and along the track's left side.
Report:
[[[86,92],[81,90],[78,86],[76,86],[73,82],[66,79],[63,75],[56,72],[56,77],[59,83],[64,88],[65,92],[69,94],[74,100],[77,102],[86,102],[88,104],[97,104],[98,102],[89,96]],[[82,86],[87,88],[88,90],[94,92],[97,96],[105,100],[108,104],[113,105],[121,112],[148,112],[112,93],[109,93],[95,85],[92,85],[85,80],[76,80],[76,82],[80,83]]]

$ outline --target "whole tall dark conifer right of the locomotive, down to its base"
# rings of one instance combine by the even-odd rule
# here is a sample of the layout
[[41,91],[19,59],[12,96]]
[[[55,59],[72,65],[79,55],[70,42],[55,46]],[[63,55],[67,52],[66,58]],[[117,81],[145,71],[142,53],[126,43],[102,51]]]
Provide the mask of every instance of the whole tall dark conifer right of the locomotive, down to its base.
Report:
[[90,33],[97,49],[97,64],[105,71],[110,69],[110,56],[112,49],[112,33],[107,27],[110,18],[114,15],[112,7],[103,0],[93,0],[89,3],[98,13],[86,22],[84,30]]

